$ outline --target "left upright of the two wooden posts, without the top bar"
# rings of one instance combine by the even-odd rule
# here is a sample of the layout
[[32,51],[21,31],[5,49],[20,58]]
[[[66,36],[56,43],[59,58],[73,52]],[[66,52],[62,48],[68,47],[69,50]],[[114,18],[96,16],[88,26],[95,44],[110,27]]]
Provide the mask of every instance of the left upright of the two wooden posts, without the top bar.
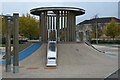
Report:
[[6,27],[6,72],[11,71],[11,40],[10,40],[10,26],[8,26],[8,17],[5,17]]

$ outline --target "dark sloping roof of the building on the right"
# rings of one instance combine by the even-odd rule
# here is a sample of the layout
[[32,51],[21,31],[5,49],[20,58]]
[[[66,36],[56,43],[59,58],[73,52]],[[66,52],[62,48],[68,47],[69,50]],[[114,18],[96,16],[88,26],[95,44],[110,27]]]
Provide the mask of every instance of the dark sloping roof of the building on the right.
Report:
[[85,20],[83,22],[80,22],[78,25],[82,24],[93,24],[93,23],[110,23],[111,20],[114,19],[117,23],[120,23],[120,19],[115,17],[104,17],[104,18],[93,18],[90,20]]

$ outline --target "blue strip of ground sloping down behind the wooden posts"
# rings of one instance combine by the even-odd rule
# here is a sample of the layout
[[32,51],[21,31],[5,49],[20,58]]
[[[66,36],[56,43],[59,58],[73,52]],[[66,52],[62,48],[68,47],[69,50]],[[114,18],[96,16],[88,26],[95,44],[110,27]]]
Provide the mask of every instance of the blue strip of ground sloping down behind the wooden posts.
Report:
[[[34,53],[37,49],[41,47],[42,43],[35,43],[32,46],[26,48],[24,51],[19,53],[19,61],[24,60],[32,53]],[[13,64],[13,57],[11,57],[11,64]],[[5,65],[5,60],[0,61],[0,65]]]

